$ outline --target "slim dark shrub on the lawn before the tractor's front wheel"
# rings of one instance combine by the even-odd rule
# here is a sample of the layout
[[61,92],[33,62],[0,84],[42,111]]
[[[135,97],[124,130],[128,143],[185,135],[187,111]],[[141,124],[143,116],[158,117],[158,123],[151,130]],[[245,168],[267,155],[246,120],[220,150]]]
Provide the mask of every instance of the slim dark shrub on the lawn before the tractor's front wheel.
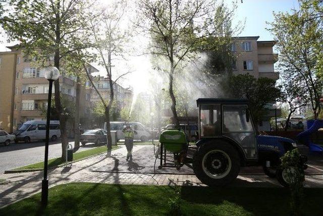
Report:
[[[281,169],[291,191],[291,209],[293,215],[301,215],[303,183],[305,181],[304,168],[298,149],[286,152],[281,157]],[[285,172],[284,172],[285,170]]]

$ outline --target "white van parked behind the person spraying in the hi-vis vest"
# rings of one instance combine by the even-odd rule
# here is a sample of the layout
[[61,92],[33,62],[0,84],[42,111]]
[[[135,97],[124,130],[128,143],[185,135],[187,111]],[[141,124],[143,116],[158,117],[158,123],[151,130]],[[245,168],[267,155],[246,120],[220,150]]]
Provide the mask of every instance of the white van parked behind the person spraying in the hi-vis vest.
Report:
[[[134,135],[134,140],[141,140],[141,142],[146,142],[151,137],[149,131],[140,122],[112,121],[110,122],[111,131],[117,131],[117,142],[119,140],[125,139],[125,136],[122,133],[122,129],[125,128],[128,124],[134,131],[137,132],[137,134]],[[104,122],[104,129],[106,131],[106,122]]]

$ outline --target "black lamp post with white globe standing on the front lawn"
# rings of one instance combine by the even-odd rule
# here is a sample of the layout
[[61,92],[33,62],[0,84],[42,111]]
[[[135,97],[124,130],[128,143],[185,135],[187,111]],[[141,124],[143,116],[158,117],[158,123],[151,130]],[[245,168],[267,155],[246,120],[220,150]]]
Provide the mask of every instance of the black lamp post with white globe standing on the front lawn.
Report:
[[51,89],[52,82],[57,80],[60,76],[60,71],[56,67],[46,67],[41,69],[40,73],[49,81],[48,102],[47,102],[47,116],[46,116],[46,140],[45,140],[45,159],[44,159],[44,178],[41,182],[41,205],[45,207],[48,201],[48,143],[49,143],[49,121],[50,121],[50,105],[51,105]]

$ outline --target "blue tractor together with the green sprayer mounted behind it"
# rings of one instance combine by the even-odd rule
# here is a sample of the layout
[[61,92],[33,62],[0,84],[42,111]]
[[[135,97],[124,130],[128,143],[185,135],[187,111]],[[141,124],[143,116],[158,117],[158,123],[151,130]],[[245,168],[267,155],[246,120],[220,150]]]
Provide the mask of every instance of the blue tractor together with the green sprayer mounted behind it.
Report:
[[[188,143],[182,140],[183,131],[166,130],[159,138],[164,151],[172,152],[172,145],[177,146],[172,152],[177,167],[192,161],[194,173],[202,183],[223,186],[237,178],[240,167],[262,165],[266,175],[287,185],[284,170],[280,170],[280,157],[296,148],[293,140],[258,135],[246,99],[200,98],[196,102],[198,141],[192,160],[186,157]],[[160,158],[162,155],[161,151]],[[302,156],[304,168],[306,160]]]

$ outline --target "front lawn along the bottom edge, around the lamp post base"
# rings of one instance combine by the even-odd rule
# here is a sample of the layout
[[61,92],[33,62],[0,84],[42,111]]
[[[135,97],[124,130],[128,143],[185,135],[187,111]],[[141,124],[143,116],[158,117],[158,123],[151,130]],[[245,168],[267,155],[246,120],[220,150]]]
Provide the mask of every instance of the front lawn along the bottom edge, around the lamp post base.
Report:
[[[285,188],[181,187],[184,215],[290,215]],[[48,206],[40,193],[3,209],[0,215],[168,215],[170,186],[71,183],[49,190]],[[323,189],[304,190],[303,215],[321,215]]]

